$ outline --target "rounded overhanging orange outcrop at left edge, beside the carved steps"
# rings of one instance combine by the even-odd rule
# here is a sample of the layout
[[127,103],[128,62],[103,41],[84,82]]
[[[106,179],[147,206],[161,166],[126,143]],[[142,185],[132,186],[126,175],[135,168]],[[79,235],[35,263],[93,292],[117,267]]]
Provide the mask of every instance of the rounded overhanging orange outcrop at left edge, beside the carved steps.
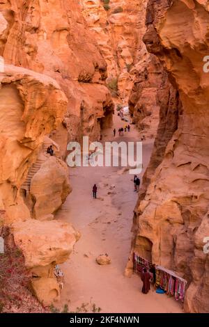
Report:
[[16,221],[30,216],[20,186],[45,134],[63,119],[67,99],[50,77],[13,65],[5,66],[0,82],[1,209]]

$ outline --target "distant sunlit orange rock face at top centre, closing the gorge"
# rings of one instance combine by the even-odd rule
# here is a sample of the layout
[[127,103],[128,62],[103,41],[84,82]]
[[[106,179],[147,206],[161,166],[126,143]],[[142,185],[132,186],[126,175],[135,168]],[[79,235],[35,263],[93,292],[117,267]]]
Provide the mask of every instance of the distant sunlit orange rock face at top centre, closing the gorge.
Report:
[[134,80],[134,65],[146,54],[141,38],[145,32],[147,1],[110,0],[109,10],[104,10],[104,2],[100,0],[80,2],[107,63],[107,85],[114,79],[118,97],[126,104]]

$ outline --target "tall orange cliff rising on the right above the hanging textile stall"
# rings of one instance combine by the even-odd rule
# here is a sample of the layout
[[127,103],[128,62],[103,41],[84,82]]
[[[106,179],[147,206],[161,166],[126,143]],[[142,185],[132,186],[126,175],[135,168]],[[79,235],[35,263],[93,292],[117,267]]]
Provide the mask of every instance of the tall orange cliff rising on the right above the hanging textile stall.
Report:
[[208,18],[206,1],[150,0],[144,35],[148,51],[160,59],[178,89],[181,104],[168,112],[173,130],[169,120],[162,124],[166,116],[161,113],[149,180],[134,216],[132,250],[187,280],[186,312],[209,310],[209,261],[203,252],[209,236],[209,80],[203,72]]

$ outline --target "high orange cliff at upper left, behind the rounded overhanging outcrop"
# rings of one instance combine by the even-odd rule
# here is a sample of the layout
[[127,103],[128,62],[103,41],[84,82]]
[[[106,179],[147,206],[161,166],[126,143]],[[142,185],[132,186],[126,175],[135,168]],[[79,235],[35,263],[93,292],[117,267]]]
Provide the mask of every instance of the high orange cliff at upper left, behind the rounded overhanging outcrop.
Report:
[[107,65],[77,1],[4,1],[0,11],[0,54],[6,63],[53,77],[68,98],[54,138],[61,136],[65,145],[82,134],[98,140],[106,116],[111,124],[113,104],[103,85]]

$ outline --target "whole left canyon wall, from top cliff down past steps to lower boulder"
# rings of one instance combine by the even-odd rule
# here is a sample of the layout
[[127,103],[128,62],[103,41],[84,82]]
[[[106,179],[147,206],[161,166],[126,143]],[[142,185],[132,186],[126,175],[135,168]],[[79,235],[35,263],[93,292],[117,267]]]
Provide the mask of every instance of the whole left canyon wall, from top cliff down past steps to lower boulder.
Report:
[[[98,141],[111,126],[107,64],[76,0],[1,1],[0,56],[0,223],[22,250],[34,294],[49,305],[60,295],[54,266],[79,239],[53,221],[71,191],[62,159],[68,141]],[[56,158],[46,154],[50,144]]]

